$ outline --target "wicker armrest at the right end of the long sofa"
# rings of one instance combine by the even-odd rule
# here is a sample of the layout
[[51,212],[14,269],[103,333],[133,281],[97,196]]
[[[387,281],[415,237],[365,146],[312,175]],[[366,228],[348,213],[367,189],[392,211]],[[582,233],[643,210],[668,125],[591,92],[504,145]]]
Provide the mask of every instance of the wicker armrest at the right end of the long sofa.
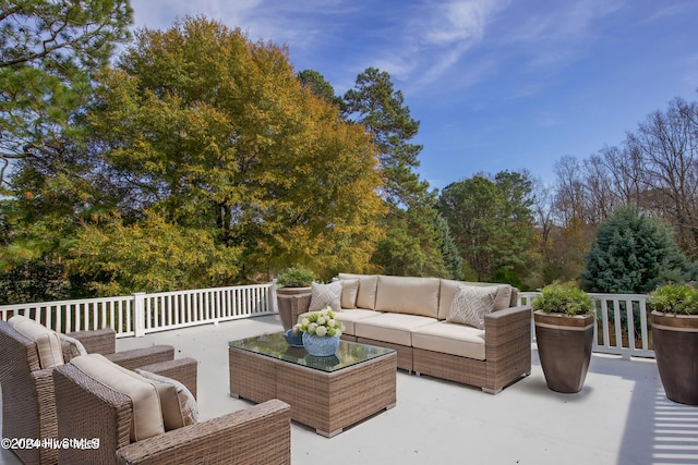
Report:
[[485,358],[512,356],[518,346],[531,346],[530,306],[509,307],[492,311],[484,317]]

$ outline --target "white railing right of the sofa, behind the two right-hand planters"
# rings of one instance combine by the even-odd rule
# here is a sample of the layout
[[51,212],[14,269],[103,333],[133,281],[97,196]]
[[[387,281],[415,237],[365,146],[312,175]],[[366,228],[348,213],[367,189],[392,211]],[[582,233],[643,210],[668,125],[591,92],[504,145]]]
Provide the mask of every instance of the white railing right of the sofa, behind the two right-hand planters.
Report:
[[[530,305],[538,294],[538,292],[519,292],[519,305]],[[624,358],[654,357],[647,295],[594,293],[589,295],[593,297],[597,310],[593,352],[622,355]]]

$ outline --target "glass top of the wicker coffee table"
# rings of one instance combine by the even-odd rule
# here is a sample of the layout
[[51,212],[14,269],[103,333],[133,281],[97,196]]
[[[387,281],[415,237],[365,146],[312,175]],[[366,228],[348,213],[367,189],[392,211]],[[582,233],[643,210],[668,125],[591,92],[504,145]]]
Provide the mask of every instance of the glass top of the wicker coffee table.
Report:
[[337,371],[395,352],[392,348],[340,340],[339,348],[337,348],[335,355],[317,357],[310,355],[303,347],[289,346],[282,332],[230,341],[228,345],[328,372]]

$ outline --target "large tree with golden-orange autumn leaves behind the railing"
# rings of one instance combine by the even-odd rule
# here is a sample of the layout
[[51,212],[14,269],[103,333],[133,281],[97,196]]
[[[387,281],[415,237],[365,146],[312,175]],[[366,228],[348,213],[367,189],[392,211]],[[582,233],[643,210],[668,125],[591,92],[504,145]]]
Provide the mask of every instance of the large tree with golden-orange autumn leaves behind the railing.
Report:
[[384,215],[363,127],[299,82],[288,51],[188,17],[142,30],[100,78],[92,149],[131,198],[240,246],[241,280],[368,261]]

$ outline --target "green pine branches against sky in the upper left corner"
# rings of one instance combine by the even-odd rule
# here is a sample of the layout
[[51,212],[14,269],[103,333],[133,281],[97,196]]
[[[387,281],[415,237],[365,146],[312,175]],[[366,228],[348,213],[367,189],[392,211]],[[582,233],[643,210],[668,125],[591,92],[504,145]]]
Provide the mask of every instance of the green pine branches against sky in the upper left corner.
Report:
[[63,155],[131,16],[128,0],[0,3],[0,187],[12,161],[46,167]]

